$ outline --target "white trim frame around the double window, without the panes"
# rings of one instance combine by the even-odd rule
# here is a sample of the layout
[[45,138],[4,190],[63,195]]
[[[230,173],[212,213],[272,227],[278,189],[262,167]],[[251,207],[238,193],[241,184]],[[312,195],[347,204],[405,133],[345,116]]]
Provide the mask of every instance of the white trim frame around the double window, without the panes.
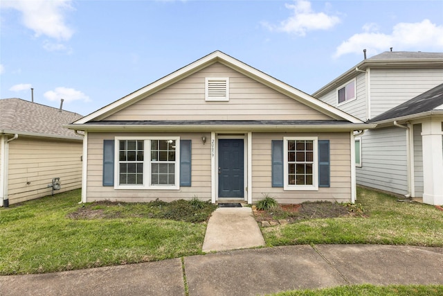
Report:
[[[119,162],[119,144],[120,140],[143,140],[143,184],[140,185],[120,185],[120,162]],[[151,140],[175,140],[175,185],[152,185],[151,184]],[[180,189],[180,137],[115,137],[114,141],[114,189],[159,189],[159,190],[177,190]],[[148,149],[146,149],[148,148]]]

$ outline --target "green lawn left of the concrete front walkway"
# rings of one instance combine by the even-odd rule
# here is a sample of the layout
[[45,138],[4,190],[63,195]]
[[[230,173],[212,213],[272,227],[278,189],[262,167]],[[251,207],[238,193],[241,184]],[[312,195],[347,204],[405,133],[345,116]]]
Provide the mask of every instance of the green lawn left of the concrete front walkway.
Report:
[[[143,207],[149,204],[133,207],[88,204],[91,208],[105,207],[111,216],[118,218],[68,218],[68,214],[82,208],[79,200],[77,190],[1,208],[0,275],[57,272],[201,254],[204,223],[143,217]],[[169,209],[171,216],[177,214],[174,213],[179,211],[177,208],[163,206],[167,209],[164,212],[168,214]]]

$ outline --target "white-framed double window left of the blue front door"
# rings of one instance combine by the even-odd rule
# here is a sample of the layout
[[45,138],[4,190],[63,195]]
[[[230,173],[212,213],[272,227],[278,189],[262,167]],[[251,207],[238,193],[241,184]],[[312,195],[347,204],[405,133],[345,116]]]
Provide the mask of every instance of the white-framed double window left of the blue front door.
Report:
[[179,143],[178,137],[117,137],[116,189],[178,189]]

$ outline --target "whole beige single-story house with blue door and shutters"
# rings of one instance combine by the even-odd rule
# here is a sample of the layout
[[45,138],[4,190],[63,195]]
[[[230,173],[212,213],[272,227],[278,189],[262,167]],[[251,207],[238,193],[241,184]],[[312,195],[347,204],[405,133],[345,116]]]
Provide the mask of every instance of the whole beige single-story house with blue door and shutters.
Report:
[[220,51],[66,127],[82,202],[351,202],[354,130],[373,128]]

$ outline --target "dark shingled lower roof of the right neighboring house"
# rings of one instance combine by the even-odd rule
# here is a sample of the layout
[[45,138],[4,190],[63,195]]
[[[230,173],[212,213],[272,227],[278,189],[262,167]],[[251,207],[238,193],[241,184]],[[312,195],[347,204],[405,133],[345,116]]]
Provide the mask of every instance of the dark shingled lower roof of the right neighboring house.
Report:
[[396,119],[399,117],[420,114],[432,110],[443,111],[443,84],[437,85],[433,89],[429,89],[427,92],[419,94],[415,98],[411,98],[409,101],[406,101],[397,107],[393,107],[383,114],[374,117],[368,121],[368,123]]

